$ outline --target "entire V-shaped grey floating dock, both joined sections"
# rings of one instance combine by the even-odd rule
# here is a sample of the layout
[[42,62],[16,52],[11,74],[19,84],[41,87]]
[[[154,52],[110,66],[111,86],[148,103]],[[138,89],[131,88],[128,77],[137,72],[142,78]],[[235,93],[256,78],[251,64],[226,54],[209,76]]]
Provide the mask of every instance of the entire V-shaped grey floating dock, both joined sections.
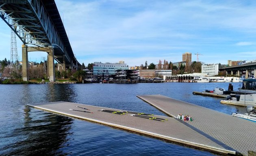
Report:
[[[251,121],[161,95],[138,97],[170,117],[70,102],[28,106],[220,154],[247,155],[249,150],[256,151],[256,124]],[[193,121],[177,119],[178,114],[188,114]]]

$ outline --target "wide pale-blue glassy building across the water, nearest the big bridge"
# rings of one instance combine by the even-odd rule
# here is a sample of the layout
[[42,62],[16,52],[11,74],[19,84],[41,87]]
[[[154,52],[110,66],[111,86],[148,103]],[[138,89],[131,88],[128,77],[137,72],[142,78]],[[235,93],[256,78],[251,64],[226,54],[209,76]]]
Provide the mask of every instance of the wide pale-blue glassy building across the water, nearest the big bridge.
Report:
[[127,67],[124,61],[120,61],[119,63],[93,63],[93,75],[112,75],[118,69],[127,70],[129,67]]

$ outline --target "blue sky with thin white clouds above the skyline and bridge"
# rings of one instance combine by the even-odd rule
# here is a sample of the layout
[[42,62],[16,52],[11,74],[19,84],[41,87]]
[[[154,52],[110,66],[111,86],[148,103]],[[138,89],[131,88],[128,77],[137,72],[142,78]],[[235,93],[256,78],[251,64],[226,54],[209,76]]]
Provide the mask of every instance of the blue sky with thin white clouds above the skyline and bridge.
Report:
[[[55,0],[76,58],[129,66],[182,61],[256,60],[255,0]],[[0,60],[10,59],[11,30],[0,21]],[[20,60],[21,41],[17,38]],[[29,53],[29,61],[44,52]]]

